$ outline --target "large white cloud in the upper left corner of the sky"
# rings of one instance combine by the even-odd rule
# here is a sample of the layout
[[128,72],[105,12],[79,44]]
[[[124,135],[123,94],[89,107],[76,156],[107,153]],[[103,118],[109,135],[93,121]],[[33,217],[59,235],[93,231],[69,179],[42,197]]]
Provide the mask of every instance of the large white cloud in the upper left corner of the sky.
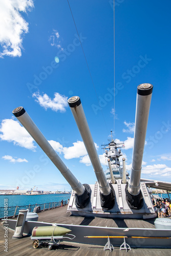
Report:
[[0,57],[22,56],[23,35],[28,33],[28,23],[20,12],[27,12],[34,7],[32,0],[1,0],[0,8],[0,44],[2,52]]

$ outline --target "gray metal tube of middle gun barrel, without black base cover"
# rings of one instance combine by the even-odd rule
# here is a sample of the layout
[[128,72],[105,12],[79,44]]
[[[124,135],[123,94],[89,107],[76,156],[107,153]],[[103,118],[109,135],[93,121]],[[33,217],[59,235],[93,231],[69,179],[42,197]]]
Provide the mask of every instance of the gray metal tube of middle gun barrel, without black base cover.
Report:
[[[79,100],[78,96],[74,96],[72,98],[70,98],[68,100],[68,102],[73,102],[73,98],[76,98],[76,101]],[[84,145],[86,146],[86,150],[89,154],[91,163],[93,165],[94,168],[94,172],[96,174],[97,177],[97,181],[99,183],[100,186],[100,191],[102,195],[109,195],[111,192],[111,188],[110,185],[108,183],[108,181],[105,178],[95,145],[94,145],[94,141],[89,129],[89,125],[86,119],[86,116],[84,114],[83,108],[82,108],[82,104],[80,103],[80,105],[75,106],[75,108],[71,108],[71,112],[74,116],[74,119],[76,121],[76,124],[78,126],[78,130],[81,134],[82,140]]]

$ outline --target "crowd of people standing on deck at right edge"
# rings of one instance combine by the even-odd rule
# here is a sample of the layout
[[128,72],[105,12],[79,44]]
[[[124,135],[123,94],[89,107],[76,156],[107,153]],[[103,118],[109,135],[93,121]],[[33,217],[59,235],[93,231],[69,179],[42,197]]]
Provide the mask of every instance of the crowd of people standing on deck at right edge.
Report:
[[166,218],[171,216],[171,202],[167,199],[157,199],[156,203],[153,200],[153,206],[158,214],[158,218]]

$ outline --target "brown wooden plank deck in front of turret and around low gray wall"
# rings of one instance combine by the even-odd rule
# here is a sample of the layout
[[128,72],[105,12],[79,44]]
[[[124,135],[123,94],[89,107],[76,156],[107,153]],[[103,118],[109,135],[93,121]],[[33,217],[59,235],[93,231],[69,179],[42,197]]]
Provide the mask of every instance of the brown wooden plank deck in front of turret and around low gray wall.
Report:
[[[109,226],[109,227],[139,227],[139,228],[155,228],[154,219],[150,220],[113,220],[113,219],[104,219],[104,218],[84,218],[84,217],[74,217],[70,216],[70,212],[67,212],[67,207],[59,207],[52,210],[42,211],[38,213],[39,220],[44,222],[51,223],[66,223],[66,224],[75,224],[75,225],[91,225],[91,226]],[[8,253],[4,251],[4,229],[3,225],[0,225],[0,250],[1,255],[8,256],[37,256],[37,255],[58,255],[60,256],[70,256],[70,255],[111,255],[109,250],[103,251],[103,246],[98,245],[89,245],[89,244],[78,244],[73,242],[63,241],[59,245],[59,247],[53,247],[52,250],[48,250],[48,248],[37,248],[33,249],[32,241],[30,237],[25,236],[23,239],[12,239],[14,234],[13,230],[8,230]],[[89,243],[89,239],[88,239]],[[113,244],[114,245],[114,244]],[[114,245],[115,247],[115,245]],[[118,247],[112,252],[112,255],[122,256],[122,255],[170,255],[171,249],[146,249],[146,248],[138,248],[133,249],[129,252],[119,250]]]

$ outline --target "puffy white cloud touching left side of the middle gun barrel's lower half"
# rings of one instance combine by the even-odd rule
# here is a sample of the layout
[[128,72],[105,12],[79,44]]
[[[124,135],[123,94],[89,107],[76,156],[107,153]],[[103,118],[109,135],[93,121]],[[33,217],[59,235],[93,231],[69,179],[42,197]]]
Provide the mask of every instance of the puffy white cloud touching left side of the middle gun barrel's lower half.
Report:
[[73,143],[73,146],[63,147],[63,154],[66,159],[79,158],[87,155],[83,141]]

